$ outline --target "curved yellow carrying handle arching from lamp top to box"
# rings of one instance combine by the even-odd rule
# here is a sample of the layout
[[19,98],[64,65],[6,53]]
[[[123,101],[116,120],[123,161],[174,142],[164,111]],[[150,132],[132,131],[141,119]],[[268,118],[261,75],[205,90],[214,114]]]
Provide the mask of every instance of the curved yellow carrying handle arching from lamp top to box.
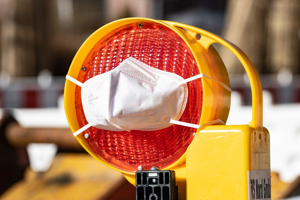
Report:
[[[219,43],[229,49],[238,58],[249,77],[252,93],[252,121],[250,121],[248,125],[252,126],[255,130],[262,130],[262,86],[258,73],[248,56],[235,44],[209,31],[178,22],[163,22],[171,25],[173,28],[177,27],[187,32],[192,32],[196,39],[200,38],[198,42],[206,50],[208,50],[211,44]],[[201,37],[198,37],[198,34],[200,34]]]

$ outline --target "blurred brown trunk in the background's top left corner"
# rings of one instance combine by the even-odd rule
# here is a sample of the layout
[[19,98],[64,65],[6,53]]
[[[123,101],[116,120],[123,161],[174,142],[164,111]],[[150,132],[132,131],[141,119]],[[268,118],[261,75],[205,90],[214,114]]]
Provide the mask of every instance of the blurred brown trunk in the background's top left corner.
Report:
[[36,72],[33,0],[1,1],[1,70],[10,76]]

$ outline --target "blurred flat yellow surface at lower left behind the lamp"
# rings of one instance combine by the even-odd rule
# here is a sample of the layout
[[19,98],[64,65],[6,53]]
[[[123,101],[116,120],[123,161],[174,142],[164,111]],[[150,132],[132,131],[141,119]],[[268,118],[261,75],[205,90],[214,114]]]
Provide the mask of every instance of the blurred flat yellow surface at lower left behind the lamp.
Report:
[[24,179],[10,187],[1,200],[105,199],[124,183],[120,172],[88,154],[58,154],[47,172],[27,169]]

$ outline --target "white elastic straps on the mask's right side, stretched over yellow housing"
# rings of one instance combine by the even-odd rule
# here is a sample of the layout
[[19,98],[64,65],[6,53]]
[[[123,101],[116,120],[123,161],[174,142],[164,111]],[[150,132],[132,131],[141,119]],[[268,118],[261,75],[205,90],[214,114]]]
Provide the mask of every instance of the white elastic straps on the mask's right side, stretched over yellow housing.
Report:
[[[193,81],[193,80],[196,80],[196,79],[199,79],[199,78],[207,78],[207,79],[210,79],[214,82],[217,82],[220,86],[222,86],[224,89],[228,90],[229,92],[231,92],[231,88],[229,88],[225,83],[222,83],[220,81],[217,81],[203,73],[200,73],[200,74],[197,74],[195,76],[192,76],[190,78],[187,78],[187,79],[184,79],[182,81],[179,81],[178,82],[178,85],[182,85],[184,83],[187,83],[187,82],[190,82],[190,81]],[[191,123],[187,123],[187,122],[183,122],[183,121],[177,121],[177,120],[173,120],[173,119],[170,119],[169,121],[171,124],[177,124],[177,125],[181,125],[181,126],[186,126],[186,127],[191,127],[191,128],[196,128],[196,129],[199,129],[200,127],[203,127],[203,126],[208,126],[208,125],[212,125],[212,124],[217,124],[217,123],[222,123],[223,125],[225,125],[225,123],[220,120],[220,119],[215,119],[213,121],[209,121],[207,123],[204,123],[202,125],[199,125],[199,124],[191,124]]]

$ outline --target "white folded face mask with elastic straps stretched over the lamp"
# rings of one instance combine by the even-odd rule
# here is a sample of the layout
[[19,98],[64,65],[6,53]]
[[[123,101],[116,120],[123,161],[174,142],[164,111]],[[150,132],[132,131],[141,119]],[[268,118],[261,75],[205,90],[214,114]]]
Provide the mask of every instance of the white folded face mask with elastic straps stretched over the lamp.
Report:
[[[125,59],[113,70],[94,76],[84,83],[67,75],[68,80],[81,87],[83,112],[88,121],[73,135],[77,136],[91,126],[128,132],[160,130],[173,124],[199,128],[200,125],[178,120],[187,103],[186,82],[201,77],[211,79],[204,74],[183,79],[175,73],[155,69],[132,57]],[[230,90],[225,84],[218,83]],[[214,120],[210,124],[217,122],[222,121]]]

